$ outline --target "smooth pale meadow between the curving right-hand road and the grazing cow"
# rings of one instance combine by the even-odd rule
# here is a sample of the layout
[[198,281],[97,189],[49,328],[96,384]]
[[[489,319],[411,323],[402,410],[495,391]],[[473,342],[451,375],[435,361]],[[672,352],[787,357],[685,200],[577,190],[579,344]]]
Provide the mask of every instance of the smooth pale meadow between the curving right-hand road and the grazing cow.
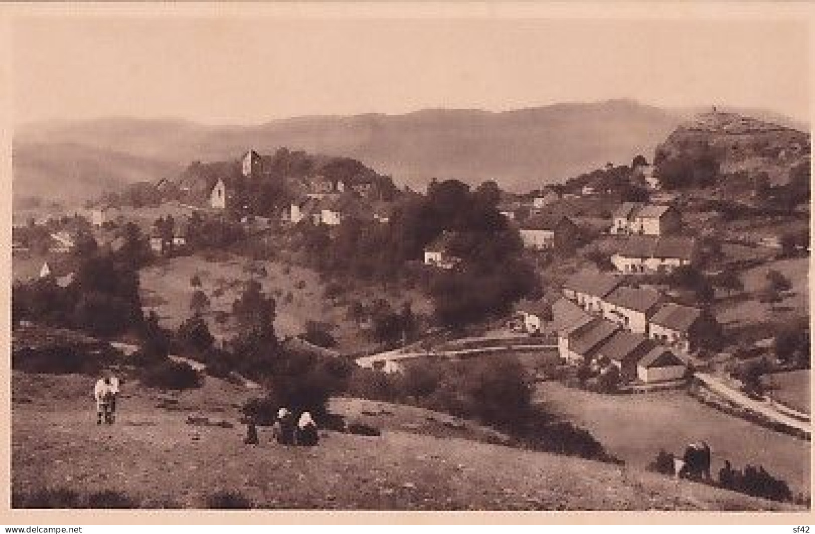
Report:
[[645,467],[660,448],[680,454],[685,445],[706,440],[713,451],[714,476],[729,460],[735,468],[762,465],[780,475],[793,492],[809,489],[809,442],[734,418],[695,401],[685,392],[610,396],[541,383],[537,398],[606,445],[632,466]]

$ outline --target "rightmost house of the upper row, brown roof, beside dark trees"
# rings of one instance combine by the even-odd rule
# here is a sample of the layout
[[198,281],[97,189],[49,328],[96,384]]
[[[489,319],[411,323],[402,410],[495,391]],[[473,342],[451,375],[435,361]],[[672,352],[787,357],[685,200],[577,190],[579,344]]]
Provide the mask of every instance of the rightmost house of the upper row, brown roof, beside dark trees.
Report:
[[718,330],[716,318],[703,310],[667,303],[650,319],[649,337],[685,354],[695,352],[703,339]]

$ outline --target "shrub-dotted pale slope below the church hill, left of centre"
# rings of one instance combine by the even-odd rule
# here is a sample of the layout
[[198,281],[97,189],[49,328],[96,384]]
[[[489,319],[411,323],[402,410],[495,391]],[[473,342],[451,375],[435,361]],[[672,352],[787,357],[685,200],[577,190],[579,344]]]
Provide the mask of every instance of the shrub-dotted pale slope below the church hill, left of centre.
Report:
[[[200,278],[201,287],[192,287],[191,279],[195,275]],[[324,296],[324,284],[315,271],[275,261],[253,261],[240,256],[218,260],[182,256],[163,260],[140,273],[143,306],[156,310],[163,326],[177,328],[192,315],[192,294],[200,289],[210,302],[209,313],[205,314],[210,330],[214,335],[228,337],[234,326],[228,320],[219,322],[219,312],[231,314],[232,303],[250,279],[260,282],[263,291],[275,298],[275,330],[279,335],[301,334],[307,322],[315,321],[333,327],[331,333],[341,349],[355,350],[369,344],[355,323],[347,318],[348,297],[330,300]],[[370,287],[357,289],[352,296],[363,303],[385,298],[394,306],[407,299],[411,300],[415,313],[430,312],[430,303],[416,291],[388,293]]]

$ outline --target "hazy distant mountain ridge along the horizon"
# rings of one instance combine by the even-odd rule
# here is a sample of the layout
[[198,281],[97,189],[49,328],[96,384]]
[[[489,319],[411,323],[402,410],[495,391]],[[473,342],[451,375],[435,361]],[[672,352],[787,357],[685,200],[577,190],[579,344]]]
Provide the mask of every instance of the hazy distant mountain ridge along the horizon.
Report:
[[[73,169],[77,194],[95,196],[108,184],[173,177],[191,161],[235,160],[249,148],[271,154],[279,147],[354,158],[418,189],[438,177],[494,179],[509,190],[530,190],[608,161],[624,164],[637,154],[650,160],[688,114],[622,99],[507,112],[304,116],[254,126],[130,118],[25,125],[14,138],[15,195],[47,191],[44,169]],[[62,148],[49,148],[55,145]],[[127,172],[123,155],[132,158]],[[51,179],[64,184],[65,177],[55,172]]]

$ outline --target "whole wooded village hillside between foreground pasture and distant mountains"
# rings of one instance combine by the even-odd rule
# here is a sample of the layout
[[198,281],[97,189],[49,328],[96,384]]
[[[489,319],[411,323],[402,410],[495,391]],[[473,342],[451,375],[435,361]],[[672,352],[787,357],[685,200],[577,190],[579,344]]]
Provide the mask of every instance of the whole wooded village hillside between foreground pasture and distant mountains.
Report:
[[[778,449],[756,458],[707,439],[781,472],[792,489],[779,498],[803,502],[790,466],[809,440],[809,151],[808,134],[714,110],[654,154],[524,192],[500,177],[434,177],[421,192],[291,148],[192,162],[15,225],[15,369],[47,368],[69,330],[94,351],[138,349],[159,382],[149,370],[170,354],[278,396],[293,395],[281,377],[314,384],[325,371],[318,404],[419,405],[542,450],[601,461],[619,450],[635,464],[672,444],[626,429],[670,424],[676,449],[718,418],[748,421]],[[54,345],[29,346],[32,331]],[[85,349],[71,347],[73,372]],[[715,415],[635,421],[620,402]],[[574,423],[568,439],[524,419],[546,403]],[[575,437],[583,427],[599,442]]]

